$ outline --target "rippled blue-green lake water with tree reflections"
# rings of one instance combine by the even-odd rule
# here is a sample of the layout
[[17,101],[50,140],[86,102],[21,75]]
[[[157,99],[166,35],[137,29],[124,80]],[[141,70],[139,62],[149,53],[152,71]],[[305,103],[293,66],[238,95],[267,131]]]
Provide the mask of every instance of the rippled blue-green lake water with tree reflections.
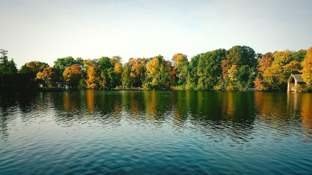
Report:
[[311,174],[312,93],[0,94],[0,174]]

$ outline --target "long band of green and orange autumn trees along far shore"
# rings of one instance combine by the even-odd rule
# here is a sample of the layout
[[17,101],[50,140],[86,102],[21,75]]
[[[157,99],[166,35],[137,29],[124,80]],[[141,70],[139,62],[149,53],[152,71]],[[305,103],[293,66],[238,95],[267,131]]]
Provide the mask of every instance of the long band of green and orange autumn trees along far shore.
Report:
[[312,90],[312,47],[256,53],[248,46],[233,46],[193,56],[178,53],[171,60],[162,55],[130,58],[122,64],[120,56],[99,59],[58,58],[54,66],[40,61],[17,69],[8,51],[1,51],[1,91],[39,90],[39,84],[53,87],[69,82],[80,89],[173,89],[286,91],[286,80],[302,74],[302,91]]

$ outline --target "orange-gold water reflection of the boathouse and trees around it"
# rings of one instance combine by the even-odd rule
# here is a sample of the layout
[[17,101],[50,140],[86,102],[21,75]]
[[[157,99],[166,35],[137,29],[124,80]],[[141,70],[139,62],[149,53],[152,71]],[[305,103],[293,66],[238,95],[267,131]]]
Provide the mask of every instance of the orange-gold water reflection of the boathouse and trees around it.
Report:
[[266,129],[282,133],[280,139],[296,136],[301,140],[302,124],[307,131],[305,134],[311,141],[311,94],[301,92],[255,92],[255,106],[258,125],[265,125]]

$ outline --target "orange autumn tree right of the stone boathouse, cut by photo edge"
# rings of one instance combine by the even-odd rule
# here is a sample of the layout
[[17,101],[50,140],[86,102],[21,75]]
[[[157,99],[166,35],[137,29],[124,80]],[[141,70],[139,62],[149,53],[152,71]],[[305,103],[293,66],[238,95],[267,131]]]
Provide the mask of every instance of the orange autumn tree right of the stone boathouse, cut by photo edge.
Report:
[[302,79],[308,86],[312,85],[312,47],[307,50],[305,55],[305,59],[303,59],[301,66],[303,69],[302,72]]

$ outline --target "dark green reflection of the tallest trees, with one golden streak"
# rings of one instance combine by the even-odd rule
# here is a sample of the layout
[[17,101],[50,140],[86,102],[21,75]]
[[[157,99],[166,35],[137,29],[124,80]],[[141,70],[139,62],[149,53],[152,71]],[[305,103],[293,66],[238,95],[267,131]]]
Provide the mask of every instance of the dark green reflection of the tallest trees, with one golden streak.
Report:
[[[254,96],[249,92],[208,92],[198,96],[201,113],[192,118],[192,124],[201,128],[207,138],[250,140],[255,120]],[[204,127],[200,127],[204,125]],[[240,140],[240,141],[238,141]]]

